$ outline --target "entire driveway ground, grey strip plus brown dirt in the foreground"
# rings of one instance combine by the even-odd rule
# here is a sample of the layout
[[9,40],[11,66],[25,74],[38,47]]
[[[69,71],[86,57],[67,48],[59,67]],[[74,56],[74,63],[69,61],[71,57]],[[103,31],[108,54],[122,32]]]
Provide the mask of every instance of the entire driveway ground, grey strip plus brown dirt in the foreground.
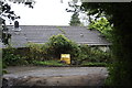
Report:
[[105,67],[38,67],[7,68],[3,78],[21,86],[101,86],[108,76]]

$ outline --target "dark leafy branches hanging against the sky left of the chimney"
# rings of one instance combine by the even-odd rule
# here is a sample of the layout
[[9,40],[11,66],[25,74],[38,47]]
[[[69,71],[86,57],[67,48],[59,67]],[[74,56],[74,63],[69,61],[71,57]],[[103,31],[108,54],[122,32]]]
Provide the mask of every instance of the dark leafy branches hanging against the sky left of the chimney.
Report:
[[33,4],[35,3],[33,0],[4,0],[0,1],[0,40],[3,44],[9,45],[9,38],[11,38],[11,34],[8,33],[9,29],[7,28],[6,20],[3,18],[8,18],[11,21],[14,21],[15,19],[20,19],[14,11],[11,10],[11,6],[8,3],[8,1],[13,3],[22,3],[25,6],[29,6],[29,8],[33,8]]

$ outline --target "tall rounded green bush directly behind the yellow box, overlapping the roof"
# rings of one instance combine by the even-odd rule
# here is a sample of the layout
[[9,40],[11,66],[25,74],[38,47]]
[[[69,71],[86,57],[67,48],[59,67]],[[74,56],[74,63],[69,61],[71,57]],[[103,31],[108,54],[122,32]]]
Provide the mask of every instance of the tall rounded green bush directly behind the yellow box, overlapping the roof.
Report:
[[61,54],[78,55],[78,45],[62,34],[53,35],[46,44],[47,53],[54,58],[61,58]]

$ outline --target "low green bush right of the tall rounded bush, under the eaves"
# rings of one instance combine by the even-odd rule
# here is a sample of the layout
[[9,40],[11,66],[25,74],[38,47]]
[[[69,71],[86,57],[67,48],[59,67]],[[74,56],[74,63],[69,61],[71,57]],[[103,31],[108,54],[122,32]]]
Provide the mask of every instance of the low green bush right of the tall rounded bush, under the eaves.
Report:
[[111,54],[100,51],[97,46],[80,45],[81,59],[94,63],[108,63],[111,59]]

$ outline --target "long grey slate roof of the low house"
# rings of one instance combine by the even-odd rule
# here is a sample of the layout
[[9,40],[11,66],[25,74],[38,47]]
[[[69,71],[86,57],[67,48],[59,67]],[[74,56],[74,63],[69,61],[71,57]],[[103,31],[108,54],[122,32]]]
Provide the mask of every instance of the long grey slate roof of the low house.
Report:
[[12,31],[11,44],[13,47],[24,47],[28,42],[45,43],[52,35],[64,34],[78,44],[109,45],[110,43],[100,36],[98,31],[87,30],[85,26],[54,26],[54,25],[20,25],[21,32]]

